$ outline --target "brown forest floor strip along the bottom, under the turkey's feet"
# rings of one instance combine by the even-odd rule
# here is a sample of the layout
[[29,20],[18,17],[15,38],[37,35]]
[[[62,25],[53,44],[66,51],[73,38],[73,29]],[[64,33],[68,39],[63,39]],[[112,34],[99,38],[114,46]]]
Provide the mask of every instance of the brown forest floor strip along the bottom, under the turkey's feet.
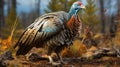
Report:
[[[8,54],[8,55],[7,55]],[[69,57],[63,58],[67,64],[51,65],[48,59],[42,58],[38,53],[32,53],[29,57],[14,56],[11,52],[2,55],[0,67],[120,67],[119,57],[104,56],[101,58]],[[54,58],[56,62],[58,59]]]

